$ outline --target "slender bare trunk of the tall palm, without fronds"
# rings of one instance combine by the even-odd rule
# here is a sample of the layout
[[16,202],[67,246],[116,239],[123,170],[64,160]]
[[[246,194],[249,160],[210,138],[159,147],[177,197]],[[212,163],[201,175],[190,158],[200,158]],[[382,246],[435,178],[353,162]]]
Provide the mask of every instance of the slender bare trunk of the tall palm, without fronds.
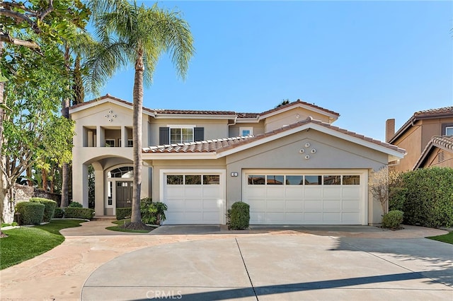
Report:
[[134,146],[134,187],[132,192],[131,223],[142,223],[140,214],[140,189],[142,188],[142,110],[143,110],[143,57],[142,52],[137,54],[134,76],[134,116],[132,119],[132,139]]

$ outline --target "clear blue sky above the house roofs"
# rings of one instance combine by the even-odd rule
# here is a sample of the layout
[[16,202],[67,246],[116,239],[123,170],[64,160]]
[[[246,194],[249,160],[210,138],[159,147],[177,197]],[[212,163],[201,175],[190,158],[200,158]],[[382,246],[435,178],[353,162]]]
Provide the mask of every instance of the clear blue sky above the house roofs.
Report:
[[[147,6],[154,1],[145,1]],[[384,141],[414,112],[453,105],[452,1],[160,1],[188,20],[185,81],[164,55],[144,106],[263,112],[284,99],[336,111]],[[132,102],[132,68],[103,89]]]

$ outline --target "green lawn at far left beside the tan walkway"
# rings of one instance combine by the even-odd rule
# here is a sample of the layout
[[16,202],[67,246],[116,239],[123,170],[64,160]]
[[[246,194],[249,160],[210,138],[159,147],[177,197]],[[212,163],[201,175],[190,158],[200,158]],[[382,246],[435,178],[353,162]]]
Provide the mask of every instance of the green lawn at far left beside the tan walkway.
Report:
[[0,240],[0,270],[43,254],[64,242],[59,230],[79,227],[84,220],[52,220],[46,225],[21,227],[3,232]]

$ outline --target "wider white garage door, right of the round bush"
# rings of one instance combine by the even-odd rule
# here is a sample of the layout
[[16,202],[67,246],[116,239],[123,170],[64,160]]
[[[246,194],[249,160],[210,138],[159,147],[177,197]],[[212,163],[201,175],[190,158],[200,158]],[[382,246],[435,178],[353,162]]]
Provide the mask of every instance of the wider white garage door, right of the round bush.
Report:
[[365,225],[364,171],[253,170],[243,177],[251,224]]

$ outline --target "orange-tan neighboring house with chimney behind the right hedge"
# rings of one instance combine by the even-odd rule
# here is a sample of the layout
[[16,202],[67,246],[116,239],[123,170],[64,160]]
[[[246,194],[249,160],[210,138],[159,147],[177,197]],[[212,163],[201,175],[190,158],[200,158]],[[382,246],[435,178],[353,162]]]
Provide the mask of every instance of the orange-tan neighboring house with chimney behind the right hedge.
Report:
[[[415,112],[396,133],[395,119],[386,121],[386,141],[407,151],[394,166],[401,172],[434,165],[453,167],[451,148],[442,146],[442,141],[451,141],[448,136],[452,135],[453,107]],[[435,160],[432,158],[434,153],[439,153]]]

